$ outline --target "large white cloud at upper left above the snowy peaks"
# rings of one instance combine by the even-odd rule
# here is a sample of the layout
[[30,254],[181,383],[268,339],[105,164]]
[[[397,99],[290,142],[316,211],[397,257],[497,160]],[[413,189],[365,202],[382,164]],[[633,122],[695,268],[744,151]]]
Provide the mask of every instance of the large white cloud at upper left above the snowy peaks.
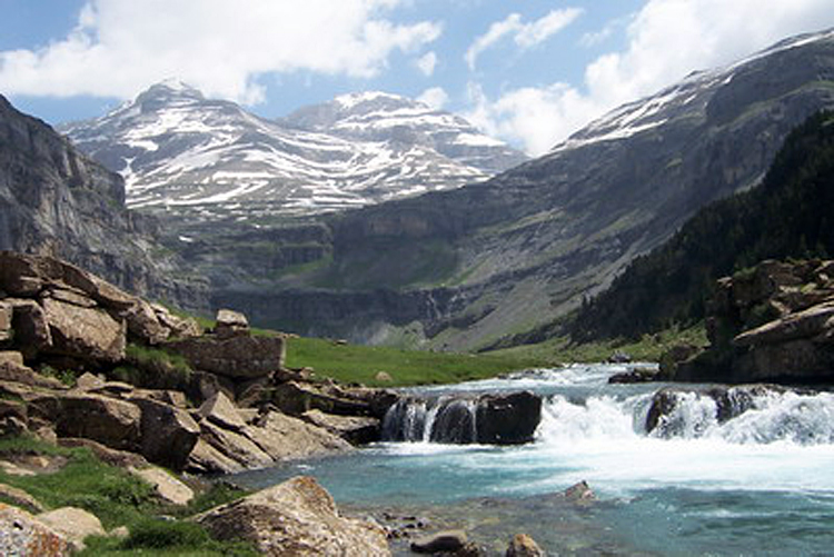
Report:
[[373,77],[418,52],[438,23],[397,24],[408,0],[88,0],[76,29],[38,50],[0,52],[9,95],[130,98],[179,77],[210,96],[262,99],[259,76],[309,70]]

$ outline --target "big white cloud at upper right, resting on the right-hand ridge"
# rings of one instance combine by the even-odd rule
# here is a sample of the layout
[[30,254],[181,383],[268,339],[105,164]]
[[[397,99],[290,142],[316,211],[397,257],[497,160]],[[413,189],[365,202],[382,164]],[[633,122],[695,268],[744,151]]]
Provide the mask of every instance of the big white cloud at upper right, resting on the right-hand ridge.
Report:
[[625,50],[592,62],[584,87],[556,82],[506,90],[496,100],[470,87],[468,116],[540,155],[589,120],[694,70],[832,26],[831,0],[768,0],[766,8],[761,0],[648,0],[628,26]]

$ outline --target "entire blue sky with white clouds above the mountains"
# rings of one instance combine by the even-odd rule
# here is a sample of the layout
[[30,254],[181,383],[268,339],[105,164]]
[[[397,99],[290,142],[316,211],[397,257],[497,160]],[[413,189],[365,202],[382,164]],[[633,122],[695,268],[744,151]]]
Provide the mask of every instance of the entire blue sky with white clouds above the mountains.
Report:
[[832,0],[0,0],[0,93],[51,123],[179,78],[274,118],[384,90],[537,155],[622,102],[784,37]]

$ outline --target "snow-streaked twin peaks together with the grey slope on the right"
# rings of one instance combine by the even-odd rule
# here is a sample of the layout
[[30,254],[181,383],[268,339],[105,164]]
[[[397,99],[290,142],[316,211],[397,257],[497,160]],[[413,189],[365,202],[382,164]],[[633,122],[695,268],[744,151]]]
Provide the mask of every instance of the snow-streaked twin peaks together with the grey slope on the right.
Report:
[[[168,217],[162,251],[207,277],[212,306],[308,335],[484,349],[566,316],[701,207],[758,183],[787,133],[834,107],[834,31],[693,73],[489,179],[496,160],[514,165],[512,151],[473,139],[471,128],[444,136],[427,127],[435,112],[418,107],[423,116],[406,118],[406,105],[358,93],[271,122],[162,83],[68,131],[127,177],[130,203]],[[485,162],[486,151],[460,148],[473,143],[502,155]],[[386,149],[386,158],[430,151],[478,177],[461,172],[415,197],[419,179],[398,181],[410,171],[403,158],[388,175],[354,155],[328,166],[346,152],[334,146]],[[270,165],[338,167],[346,181],[310,171],[312,193],[300,193],[288,177],[251,178]],[[354,177],[361,169],[369,173]],[[395,192],[383,186],[391,183]],[[316,197],[336,185],[361,200]],[[385,201],[383,190],[404,198]]]

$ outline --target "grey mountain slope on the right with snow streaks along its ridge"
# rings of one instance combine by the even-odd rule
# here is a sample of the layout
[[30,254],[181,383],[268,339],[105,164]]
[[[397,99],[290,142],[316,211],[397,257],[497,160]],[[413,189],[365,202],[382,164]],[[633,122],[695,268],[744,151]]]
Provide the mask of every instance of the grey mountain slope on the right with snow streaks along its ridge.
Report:
[[576,308],[699,207],[757,183],[788,131],[832,106],[834,32],[791,39],[487,182],[328,218],[321,257],[216,302],[356,340],[489,346]]

